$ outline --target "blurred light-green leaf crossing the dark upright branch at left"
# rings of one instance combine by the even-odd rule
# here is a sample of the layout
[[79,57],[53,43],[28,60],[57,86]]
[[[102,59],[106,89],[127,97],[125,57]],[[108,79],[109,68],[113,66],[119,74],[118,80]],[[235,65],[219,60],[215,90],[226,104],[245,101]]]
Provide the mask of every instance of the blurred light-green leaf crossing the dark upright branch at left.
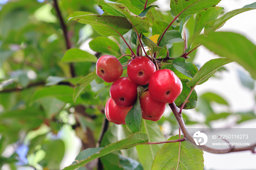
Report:
[[97,62],[97,57],[80,49],[68,49],[61,59],[62,62]]

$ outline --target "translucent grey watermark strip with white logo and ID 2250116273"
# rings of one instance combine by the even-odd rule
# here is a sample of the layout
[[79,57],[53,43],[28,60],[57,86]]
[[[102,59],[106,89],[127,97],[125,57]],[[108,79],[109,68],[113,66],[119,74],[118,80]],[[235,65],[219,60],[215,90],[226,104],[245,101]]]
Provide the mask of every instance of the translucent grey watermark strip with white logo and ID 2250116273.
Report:
[[196,145],[214,149],[240,148],[256,143],[256,128],[187,128]]

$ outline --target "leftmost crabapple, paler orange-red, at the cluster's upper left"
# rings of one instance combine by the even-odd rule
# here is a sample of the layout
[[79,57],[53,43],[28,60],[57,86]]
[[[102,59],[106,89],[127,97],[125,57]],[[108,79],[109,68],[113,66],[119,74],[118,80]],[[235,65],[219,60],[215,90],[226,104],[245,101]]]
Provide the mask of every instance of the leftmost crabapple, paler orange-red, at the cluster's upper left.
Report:
[[123,66],[112,55],[102,55],[96,63],[96,74],[105,82],[114,82],[123,74]]

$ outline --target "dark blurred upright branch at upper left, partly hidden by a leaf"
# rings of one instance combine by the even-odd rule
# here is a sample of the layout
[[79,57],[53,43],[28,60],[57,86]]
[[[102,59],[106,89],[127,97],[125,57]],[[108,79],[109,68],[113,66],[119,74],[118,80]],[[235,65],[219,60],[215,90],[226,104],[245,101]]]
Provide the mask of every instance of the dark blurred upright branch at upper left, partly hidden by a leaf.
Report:
[[[60,8],[59,8],[57,0],[53,0],[53,6],[54,6],[54,8],[55,8],[55,10],[57,12],[57,16],[58,16],[58,18],[60,20],[60,25],[61,25],[61,28],[62,28],[62,31],[63,31],[63,36],[64,36],[64,39],[65,39],[65,43],[66,43],[66,49],[68,50],[68,49],[71,48],[71,40],[69,39],[68,31],[67,31],[67,26],[64,23],[64,20],[62,18],[62,15],[61,15]],[[71,76],[72,77],[76,77],[74,63],[69,63],[69,68],[70,68]]]

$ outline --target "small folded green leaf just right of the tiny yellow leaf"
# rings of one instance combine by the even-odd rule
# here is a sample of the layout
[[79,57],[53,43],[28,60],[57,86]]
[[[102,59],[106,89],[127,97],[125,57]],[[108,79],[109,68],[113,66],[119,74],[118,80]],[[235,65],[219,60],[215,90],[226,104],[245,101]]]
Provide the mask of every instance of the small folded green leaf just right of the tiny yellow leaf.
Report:
[[[159,36],[158,41],[161,38],[161,36],[162,36],[162,34]],[[183,42],[183,41],[184,40],[182,39],[182,36],[179,31],[170,30],[170,31],[166,31],[165,35],[163,35],[163,38],[159,43],[159,47],[163,47],[167,44],[179,43],[179,42]]]

